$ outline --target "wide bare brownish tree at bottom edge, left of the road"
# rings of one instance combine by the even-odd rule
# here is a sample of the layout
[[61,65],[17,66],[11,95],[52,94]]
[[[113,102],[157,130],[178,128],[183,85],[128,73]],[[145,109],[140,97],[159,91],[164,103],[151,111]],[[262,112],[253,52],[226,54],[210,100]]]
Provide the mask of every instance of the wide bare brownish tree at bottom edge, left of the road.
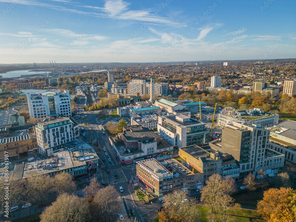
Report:
[[62,194],[41,214],[41,222],[85,222],[89,218],[86,201],[76,195]]

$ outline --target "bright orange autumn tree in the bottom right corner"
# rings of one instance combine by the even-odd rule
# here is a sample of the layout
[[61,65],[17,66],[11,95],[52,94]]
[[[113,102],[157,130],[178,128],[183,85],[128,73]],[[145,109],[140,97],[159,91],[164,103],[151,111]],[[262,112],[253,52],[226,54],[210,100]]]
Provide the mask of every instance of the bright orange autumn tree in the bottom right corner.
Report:
[[270,222],[296,221],[296,191],[292,188],[271,188],[264,192],[258,212]]

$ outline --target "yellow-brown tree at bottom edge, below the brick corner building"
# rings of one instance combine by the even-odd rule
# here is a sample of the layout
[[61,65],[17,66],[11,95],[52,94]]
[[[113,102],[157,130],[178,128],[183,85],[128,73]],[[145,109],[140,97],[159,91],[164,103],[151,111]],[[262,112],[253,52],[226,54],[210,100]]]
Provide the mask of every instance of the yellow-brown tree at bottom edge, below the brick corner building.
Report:
[[159,222],[199,221],[199,211],[194,199],[184,190],[165,195],[163,206],[164,209],[159,213]]

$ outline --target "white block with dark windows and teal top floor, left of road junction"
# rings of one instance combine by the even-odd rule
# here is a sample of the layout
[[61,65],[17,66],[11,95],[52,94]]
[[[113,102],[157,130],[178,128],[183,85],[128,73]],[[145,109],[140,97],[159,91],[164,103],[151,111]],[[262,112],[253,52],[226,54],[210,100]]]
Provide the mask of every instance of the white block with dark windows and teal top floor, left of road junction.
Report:
[[45,120],[35,127],[38,151],[44,157],[56,156],[65,143],[79,137],[79,126],[70,118]]

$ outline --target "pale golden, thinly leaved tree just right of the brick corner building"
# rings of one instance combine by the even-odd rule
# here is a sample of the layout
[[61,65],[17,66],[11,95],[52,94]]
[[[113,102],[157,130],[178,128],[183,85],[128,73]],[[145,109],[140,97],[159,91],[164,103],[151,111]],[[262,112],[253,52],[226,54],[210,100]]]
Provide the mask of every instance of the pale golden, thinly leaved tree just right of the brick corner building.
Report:
[[236,191],[234,179],[230,177],[222,178],[219,174],[213,174],[206,181],[206,186],[200,189],[201,200],[213,207],[218,203],[219,198],[225,194],[232,194]]

